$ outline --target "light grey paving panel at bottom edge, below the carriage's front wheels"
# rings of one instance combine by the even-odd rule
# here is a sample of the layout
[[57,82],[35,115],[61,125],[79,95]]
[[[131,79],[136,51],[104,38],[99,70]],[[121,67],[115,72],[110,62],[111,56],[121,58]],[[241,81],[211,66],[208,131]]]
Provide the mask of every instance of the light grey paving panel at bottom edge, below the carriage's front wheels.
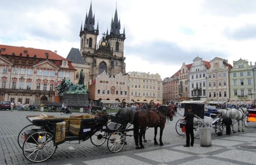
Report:
[[[121,162],[120,162],[121,161]],[[84,162],[87,165],[150,165],[128,156],[114,156],[104,159],[94,159]]]

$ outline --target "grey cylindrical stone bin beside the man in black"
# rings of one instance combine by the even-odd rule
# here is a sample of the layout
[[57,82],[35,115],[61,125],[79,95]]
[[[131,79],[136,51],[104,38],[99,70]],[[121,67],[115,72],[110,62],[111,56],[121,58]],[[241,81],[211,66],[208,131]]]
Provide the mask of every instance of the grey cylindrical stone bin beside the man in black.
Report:
[[203,127],[199,129],[200,134],[200,145],[202,147],[212,146],[212,129],[208,127]]

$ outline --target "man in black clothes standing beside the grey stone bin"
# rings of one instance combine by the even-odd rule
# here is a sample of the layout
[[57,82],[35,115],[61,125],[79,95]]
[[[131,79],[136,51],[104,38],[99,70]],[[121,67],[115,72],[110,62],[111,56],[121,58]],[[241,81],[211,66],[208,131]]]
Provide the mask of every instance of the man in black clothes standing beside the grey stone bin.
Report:
[[193,125],[194,125],[194,114],[192,111],[192,107],[188,107],[188,113],[185,114],[185,117],[182,120],[186,121],[185,129],[186,129],[186,145],[183,145],[184,147],[189,147],[189,142],[190,138],[189,135],[191,136],[191,143],[190,146],[194,146],[194,130],[193,130]]

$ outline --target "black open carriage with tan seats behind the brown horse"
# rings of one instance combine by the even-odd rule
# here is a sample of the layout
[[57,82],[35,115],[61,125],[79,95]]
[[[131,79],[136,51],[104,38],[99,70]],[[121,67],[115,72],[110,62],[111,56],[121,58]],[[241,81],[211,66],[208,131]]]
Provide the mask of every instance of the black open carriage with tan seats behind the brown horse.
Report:
[[109,151],[122,150],[126,132],[122,129],[121,117],[112,116],[111,122],[105,115],[83,114],[71,117],[54,117],[40,114],[26,117],[31,125],[26,126],[18,135],[18,144],[23,154],[31,162],[44,162],[65,141],[80,142],[91,139],[93,145],[100,146],[107,140]]

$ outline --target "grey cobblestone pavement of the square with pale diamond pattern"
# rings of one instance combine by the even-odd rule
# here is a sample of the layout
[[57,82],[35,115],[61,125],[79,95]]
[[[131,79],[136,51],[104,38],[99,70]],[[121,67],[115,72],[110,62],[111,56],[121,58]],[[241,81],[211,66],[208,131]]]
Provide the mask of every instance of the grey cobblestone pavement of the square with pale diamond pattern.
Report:
[[[5,164],[31,164],[23,155],[18,146],[18,133],[30,122],[27,115],[38,115],[41,112],[28,111],[0,111],[0,165]],[[60,113],[44,114],[61,116]],[[80,113],[72,113],[77,115]],[[183,114],[183,111],[180,111]],[[69,115],[62,115],[68,117]],[[77,144],[73,141],[71,146],[74,150],[68,149],[70,144],[59,145],[52,158],[41,164],[250,164],[256,162],[256,151],[242,149],[241,145],[256,145],[256,123],[250,123],[244,133],[232,134],[230,137],[224,135],[217,137],[212,131],[212,147],[202,148],[199,139],[195,140],[192,148],[184,148],[185,136],[179,136],[175,131],[175,124],[180,116],[174,116],[174,121],[167,122],[164,133],[164,146],[153,145],[153,128],[146,131],[147,143],[145,149],[135,150],[133,137],[127,137],[127,145],[119,153],[111,154],[106,144],[95,147],[90,140]],[[237,126],[236,126],[237,130]],[[130,134],[133,134],[132,131]],[[159,139],[159,132],[157,139]],[[241,152],[242,151],[242,152]]]

